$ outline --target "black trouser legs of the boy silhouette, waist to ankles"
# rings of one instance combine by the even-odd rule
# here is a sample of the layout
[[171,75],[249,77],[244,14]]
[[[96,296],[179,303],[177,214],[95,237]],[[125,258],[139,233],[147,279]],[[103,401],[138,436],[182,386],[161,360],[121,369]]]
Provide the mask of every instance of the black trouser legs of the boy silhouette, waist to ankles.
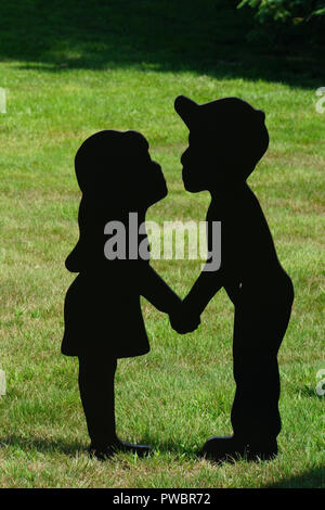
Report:
[[[284,297],[284,296],[282,296]],[[244,441],[274,439],[281,431],[277,352],[285,335],[294,293],[273,303],[235,307],[233,360],[236,393],[234,434]]]

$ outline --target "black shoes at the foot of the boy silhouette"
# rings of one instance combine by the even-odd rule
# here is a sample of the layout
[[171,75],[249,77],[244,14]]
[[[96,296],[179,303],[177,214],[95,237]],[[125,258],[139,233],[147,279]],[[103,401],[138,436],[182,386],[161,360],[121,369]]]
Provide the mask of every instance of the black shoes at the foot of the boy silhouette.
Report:
[[214,462],[271,460],[277,455],[276,439],[245,442],[235,436],[210,437],[202,449],[202,455]]

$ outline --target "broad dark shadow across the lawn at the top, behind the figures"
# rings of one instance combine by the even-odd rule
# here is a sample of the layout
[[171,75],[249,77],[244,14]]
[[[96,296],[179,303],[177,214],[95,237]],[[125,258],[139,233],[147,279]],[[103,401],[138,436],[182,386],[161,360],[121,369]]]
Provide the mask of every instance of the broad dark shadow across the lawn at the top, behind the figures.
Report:
[[[247,43],[237,0],[17,0],[0,5],[0,60],[49,72],[135,67],[316,88],[324,52]],[[1,86],[1,84],[0,84]]]

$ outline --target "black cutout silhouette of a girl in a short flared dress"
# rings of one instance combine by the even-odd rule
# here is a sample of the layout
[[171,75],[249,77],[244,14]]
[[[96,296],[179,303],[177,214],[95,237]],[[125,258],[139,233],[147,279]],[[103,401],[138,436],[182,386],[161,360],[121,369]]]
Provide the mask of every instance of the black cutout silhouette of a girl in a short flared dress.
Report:
[[[65,298],[62,353],[79,358],[91,455],[105,459],[123,450],[143,456],[150,447],[116,435],[114,377],[118,358],[150,350],[140,296],[167,314],[181,305],[150,266],[143,229],[146,209],[167,195],[166,181],[151,160],[147,141],[136,131],[96,132],[78,150],[75,168],[82,191],[80,237],[66,267],[79,275]],[[197,324],[192,321],[188,330]]]

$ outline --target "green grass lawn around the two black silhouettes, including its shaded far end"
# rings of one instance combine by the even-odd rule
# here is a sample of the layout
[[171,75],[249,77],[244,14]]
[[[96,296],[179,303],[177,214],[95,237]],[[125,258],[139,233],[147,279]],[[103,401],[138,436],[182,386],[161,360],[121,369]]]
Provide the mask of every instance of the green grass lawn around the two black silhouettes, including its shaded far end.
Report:
[[[0,487],[325,486],[324,397],[315,393],[325,369],[325,114],[315,111],[324,54],[248,46],[246,16],[207,0],[1,3]],[[116,413],[121,438],[153,446],[147,459],[89,459],[77,360],[60,353],[74,279],[64,260],[78,238],[74,156],[88,136],[141,131],[169,188],[147,219],[205,218],[208,195],[191,195],[181,181],[180,93],[199,103],[237,95],[266,112],[271,143],[249,184],[296,291],[278,356],[283,430],[272,462],[216,467],[196,456],[208,436],[232,432],[224,291],[185,336],[143,299],[152,350],[120,360]],[[180,296],[200,264],[153,262]]]

